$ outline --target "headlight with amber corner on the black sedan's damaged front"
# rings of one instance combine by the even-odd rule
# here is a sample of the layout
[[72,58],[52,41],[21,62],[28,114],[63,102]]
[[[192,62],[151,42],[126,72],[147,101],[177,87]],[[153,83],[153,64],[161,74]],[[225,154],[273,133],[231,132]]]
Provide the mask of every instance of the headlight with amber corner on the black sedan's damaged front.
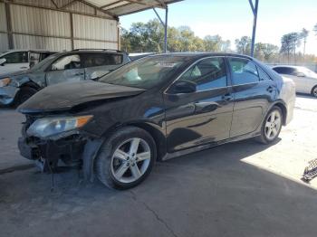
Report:
[[26,133],[28,136],[34,137],[50,137],[75,128],[81,128],[88,123],[91,118],[92,115],[37,119],[30,128],[27,129]]

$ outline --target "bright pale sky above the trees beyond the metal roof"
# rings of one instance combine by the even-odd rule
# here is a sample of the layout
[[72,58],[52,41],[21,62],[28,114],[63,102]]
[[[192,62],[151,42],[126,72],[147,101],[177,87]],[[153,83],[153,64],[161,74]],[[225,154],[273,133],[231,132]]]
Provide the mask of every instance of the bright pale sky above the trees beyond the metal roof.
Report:
[[[255,2],[255,1],[254,1]],[[164,10],[158,10],[162,19]],[[157,16],[153,10],[120,17],[121,27],[130,28],[135,22],[146,23]],[[306,52],[317,55],[317,36],[312,32],[317,24],[317,0],[259,0],[255,43],[281,45],[284,33],[309,30]],[[199,37],[219,34],[231,41],[252,35],[253,14],[248,0],[185,0],[169,5],[169,26],[189,26]],[[303,51],[303,45],[300,50]]]

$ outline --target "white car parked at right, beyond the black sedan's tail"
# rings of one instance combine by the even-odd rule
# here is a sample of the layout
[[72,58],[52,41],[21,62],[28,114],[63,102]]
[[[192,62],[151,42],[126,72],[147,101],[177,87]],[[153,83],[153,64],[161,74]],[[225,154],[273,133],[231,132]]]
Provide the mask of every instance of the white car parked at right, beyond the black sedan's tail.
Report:
[[294,81],[296,92],[312,94],[317,98],[317,73],[301,66],[279,65],[272,68]]

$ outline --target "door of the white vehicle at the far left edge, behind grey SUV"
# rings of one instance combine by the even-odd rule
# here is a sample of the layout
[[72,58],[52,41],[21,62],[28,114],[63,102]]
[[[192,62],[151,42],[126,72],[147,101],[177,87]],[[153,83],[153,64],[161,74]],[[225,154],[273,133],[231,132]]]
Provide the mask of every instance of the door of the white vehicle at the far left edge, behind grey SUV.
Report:
[[29,68],[28,52],[9,52],[3,57],[6,62],[5,65],[0,68],[1,72],[10,73],[14,71],[24,71]]

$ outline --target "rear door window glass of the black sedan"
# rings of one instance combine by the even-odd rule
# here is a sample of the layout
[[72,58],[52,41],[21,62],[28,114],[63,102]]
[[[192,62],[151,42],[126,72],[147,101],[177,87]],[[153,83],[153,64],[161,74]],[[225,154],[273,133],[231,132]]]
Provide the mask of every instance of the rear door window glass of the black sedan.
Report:
[[255,63],[241,58],[229,58],[233,85],[258,82],[259,75]]

